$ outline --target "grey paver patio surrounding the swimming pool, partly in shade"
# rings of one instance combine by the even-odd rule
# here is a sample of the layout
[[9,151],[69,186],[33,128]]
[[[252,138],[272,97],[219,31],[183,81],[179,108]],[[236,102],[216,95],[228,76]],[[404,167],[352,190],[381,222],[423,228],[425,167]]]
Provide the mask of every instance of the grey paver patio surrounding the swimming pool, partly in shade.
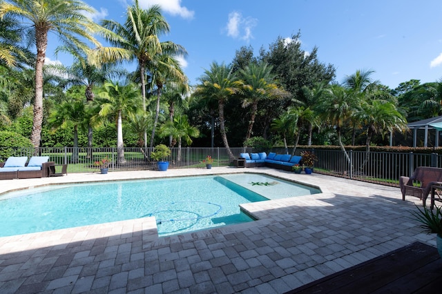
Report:
[[[415,241],[435,246],[398,188],[271,168],[69,174],[40,184],[266,173],[323,193],[244,204],[256,222],[157,238],[155,219],[0,238],[0,293],[284,293]],[[7,222],[7,219],[3,219]],[[436,250],[436,248],[434,248]]]

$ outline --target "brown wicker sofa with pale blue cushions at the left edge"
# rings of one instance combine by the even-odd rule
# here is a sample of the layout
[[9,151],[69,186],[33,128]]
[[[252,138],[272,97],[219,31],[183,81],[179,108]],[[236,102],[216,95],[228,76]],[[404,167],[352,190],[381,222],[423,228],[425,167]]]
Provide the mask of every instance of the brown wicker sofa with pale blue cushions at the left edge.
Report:
[[48,156],[32,156],[26,163],[28,157],[9,157],[6,162],[0,163],[0,179],[30,179],[34,177],[48,177],[49,166]]

